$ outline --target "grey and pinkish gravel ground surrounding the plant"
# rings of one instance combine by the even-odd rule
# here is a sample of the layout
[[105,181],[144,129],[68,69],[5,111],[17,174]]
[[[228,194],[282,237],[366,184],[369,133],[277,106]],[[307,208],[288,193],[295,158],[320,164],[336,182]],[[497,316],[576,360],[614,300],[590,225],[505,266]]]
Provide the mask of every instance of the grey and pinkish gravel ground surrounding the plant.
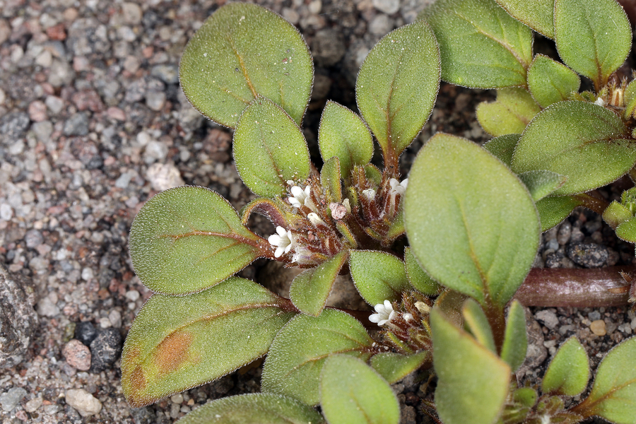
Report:
[[[122,340],[151,295],[127,253],[143,202],[181,184],[210,187],[237,208],[252,199],[230,160],[230,131],[202,118],[177,80],[184,45],[223,3],[0,0],[0,265],[8,271],[0,272],[0,301],[13,311],[0,322],[3,424],[172,423],[208,399],[259,391],[261,368],[251,367],[131,410],[119,384]],[[425,2],[259,4],[297,25],[314,54],[305,134],[316,153],[325,100],[355,107],[353,83],[365,54],[412,22]],[[493,98],[442,85],[430,123],[404,155],[405,173],[436,131],[486,141],[474,108]],[[262,220],[255,225],[271,232]],[[570,258],[580,255],[571,252],[581,244],[594,247],[587,262],[575,264]],[[536,266],[628,264],[633,247],[594,213],[577,211],[543,236],[539,256]],[[254,278],[259,265],[242,275]],[[596,365],[636,328],[626,308],[533,309],[529,323],[532,367],[546,365],[572,334]],[[522,374],[536,379],[542,372]],[[395,385],[402,423],[428,422],[416,377]]]

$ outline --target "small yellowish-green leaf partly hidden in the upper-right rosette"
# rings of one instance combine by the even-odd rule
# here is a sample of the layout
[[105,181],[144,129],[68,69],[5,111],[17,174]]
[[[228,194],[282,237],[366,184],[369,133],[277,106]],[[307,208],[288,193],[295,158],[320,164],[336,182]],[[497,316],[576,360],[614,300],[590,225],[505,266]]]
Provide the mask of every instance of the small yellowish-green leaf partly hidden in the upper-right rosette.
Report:
[[495,102],[477,105],[477,119],[484,131],[493,136],[521,134],[540,111],[525,88],[501,88]]

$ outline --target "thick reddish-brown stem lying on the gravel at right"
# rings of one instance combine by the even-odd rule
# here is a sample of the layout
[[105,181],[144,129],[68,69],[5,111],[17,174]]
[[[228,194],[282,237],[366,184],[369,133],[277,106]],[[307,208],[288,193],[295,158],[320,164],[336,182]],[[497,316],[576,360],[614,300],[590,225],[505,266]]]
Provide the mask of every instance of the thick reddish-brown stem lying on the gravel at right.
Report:
[[535,268],[514,298],[526,306],[607,307],[628,304],[630,284],[620,271],[636,266],[608,266],[598,269]]

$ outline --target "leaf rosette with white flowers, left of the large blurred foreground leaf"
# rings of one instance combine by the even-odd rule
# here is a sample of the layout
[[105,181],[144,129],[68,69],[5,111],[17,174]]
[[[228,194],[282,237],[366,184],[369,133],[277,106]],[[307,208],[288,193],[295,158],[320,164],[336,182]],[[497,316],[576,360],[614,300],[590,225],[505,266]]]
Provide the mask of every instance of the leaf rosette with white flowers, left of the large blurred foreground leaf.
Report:
[[[136,216],[131,260],[155,294],[122,353],[131,406],[267,355],[267,394],[213,402],[184,422],[320,422],[316,404],[329,423],[398,422],[388,384],[430,363],[423,349],[430,348],[432,302],[425,295],[438,290],[396,244],[404,238],[406,190],[398,160],[434,105],[439,51],[424,22],[380,40],[358,76],[360,114],[326,104],[319,172],[300,129],[312,78],[298,31],[252,4],[219,8],[188,43],[180,64],[184,93],[206,117],[234,129],[237,171],[257,198],[237,213],[209,189],[177,187]],[[382,170],[370,163],[374,139]],[[249,230],[252,213],[269,218],[276,233]],[[257,258],[305,269],[290,299],[234,276]],[[351,314],[325,310],[336,276],[346,271],[367,302],[391,309],[392,336],[375,340]]]

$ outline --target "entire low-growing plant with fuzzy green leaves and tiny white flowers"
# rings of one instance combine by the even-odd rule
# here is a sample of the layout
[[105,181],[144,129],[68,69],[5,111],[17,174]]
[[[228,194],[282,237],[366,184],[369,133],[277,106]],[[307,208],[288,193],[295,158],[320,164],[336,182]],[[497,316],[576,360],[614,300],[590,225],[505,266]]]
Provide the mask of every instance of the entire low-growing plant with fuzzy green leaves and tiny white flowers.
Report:
[[[575,206],[600,204],[584,192],[636,163],[636,96],[613,79],[630,48],[629,24],[613,0],[506,3],[514,18],[491,0],[438,1],[425,20],[383,37],[358,74],[360,114],[326,103],[321,170],[300,129],[313,65],[298,31],[252,4],[228,4],[206,20],[185,49],[181,86],[199,112],[234,129],[237,171],[258,197],[237,213],[209,189],[177,187],[141,208],[131,259],[155,294],[122,354],[131,406],[266,355],[263,393],[212,401],[179,423],[396,424],[389,384],[431,367],[435,396],[424,412],[436,422],[636,423],[636,338],[606,355],[577,404],[570,399],[584,393],[590,373],[575,338],[541,387],[519,387],[514,374],[528,342],[513,297],[541,229]],[[544,16],[552,6],[554,18]],[[555,37],[594,91],[577,93],[579,76],[563,64],[532,59],[531,30],[515,18]],[[594,66],[577,42],[593,46]],[[500,88],[497,102],[477,111],[497,137],[481,148],[436,134],[406,179],[399,158],[428,120],[440,76]],[[371,163],[374,139],[382,169]],[[633,197],[604,216],[619,236],[636,225]],[[250,230],[252,213],[276,233]],[[289,299],[235,276],[257,258],[304,269]],[[347,273],[375,313],[326,307]]]

